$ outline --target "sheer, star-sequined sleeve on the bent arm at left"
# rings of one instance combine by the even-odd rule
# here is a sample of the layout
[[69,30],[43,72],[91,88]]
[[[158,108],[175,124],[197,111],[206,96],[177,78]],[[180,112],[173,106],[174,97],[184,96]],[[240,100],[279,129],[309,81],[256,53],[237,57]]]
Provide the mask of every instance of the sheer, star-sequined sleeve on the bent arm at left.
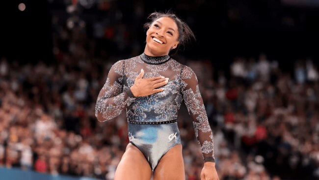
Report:
[[95,106],[95,116],[99,121],[115,118],[134,101],[130,88],[122,92],[123,77],[124,60],[120,60],[109,70],[106,83],[99,93]]

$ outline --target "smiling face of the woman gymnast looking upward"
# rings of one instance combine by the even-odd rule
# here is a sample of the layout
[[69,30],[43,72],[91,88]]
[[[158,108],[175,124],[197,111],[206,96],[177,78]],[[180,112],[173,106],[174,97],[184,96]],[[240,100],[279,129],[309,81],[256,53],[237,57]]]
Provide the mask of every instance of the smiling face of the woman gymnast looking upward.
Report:
[[168,55],[171,48],[176,48],[179,33],[175,21],[169,17],[155,20],[146,32],[144,53],[148,56]]

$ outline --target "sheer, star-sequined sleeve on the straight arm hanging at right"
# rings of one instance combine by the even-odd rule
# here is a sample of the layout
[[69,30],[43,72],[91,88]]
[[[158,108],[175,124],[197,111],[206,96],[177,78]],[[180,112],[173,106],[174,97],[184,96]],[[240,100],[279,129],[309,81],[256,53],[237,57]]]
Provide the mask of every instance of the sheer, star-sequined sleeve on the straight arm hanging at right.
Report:
[[205,106],[194,71],[184,66],[181,72],[183,98],[193,119],[195,135],[202,149],[204,162],[215,162],[213,156],[213,132],[208,122]]

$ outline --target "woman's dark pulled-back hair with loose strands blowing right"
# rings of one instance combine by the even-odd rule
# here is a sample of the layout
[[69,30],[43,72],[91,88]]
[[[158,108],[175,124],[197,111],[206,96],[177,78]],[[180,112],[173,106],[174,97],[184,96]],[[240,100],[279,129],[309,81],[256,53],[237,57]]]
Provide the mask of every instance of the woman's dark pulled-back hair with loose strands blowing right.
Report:
[[[185,45],[187,43],[189,43],[191,41],[191,39],[196,40],[195,35],[193,33],[193,31],[189,28],[189,26],[183,21],[181,20],[179,17],[176,16],[176,14],[174,14],[171,11],[167,11],[167,12],[153,12],[152,14],[150,14],[148,16],[148,20],[150,20],[150,22],[145,23],[144,24],[144,29],[148,30],[150,28],[150,26],[152,25],[152,23],[162,17],[169,17],[171,19],[173,19],[177,25],[178,28],[178,41],[180,42],[179,45],[183,46],[185,48]],[[180,46],[177,46],[177,48],[172,49],[170,51],[170,54],[175,54]]]

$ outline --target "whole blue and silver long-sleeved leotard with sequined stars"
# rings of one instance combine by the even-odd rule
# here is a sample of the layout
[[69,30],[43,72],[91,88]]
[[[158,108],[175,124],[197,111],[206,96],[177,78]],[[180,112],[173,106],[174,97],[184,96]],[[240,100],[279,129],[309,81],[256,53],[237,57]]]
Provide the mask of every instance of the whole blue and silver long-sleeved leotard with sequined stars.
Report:
[[[142,68],[145,72],[143,78],[169,78],[163,86],[165,90],[134,97],[130,87]],[[204,161],[214,162],[213,133],[197,77],[191,68],[169,56],[150,57],[142,54],[117,61],[99,93],[95,116],[100,121],[110,120],[126,109],[130,143],[141,150],[154,171],[160,158],[181,143],[177,115],[183,100],[193,120]]]

